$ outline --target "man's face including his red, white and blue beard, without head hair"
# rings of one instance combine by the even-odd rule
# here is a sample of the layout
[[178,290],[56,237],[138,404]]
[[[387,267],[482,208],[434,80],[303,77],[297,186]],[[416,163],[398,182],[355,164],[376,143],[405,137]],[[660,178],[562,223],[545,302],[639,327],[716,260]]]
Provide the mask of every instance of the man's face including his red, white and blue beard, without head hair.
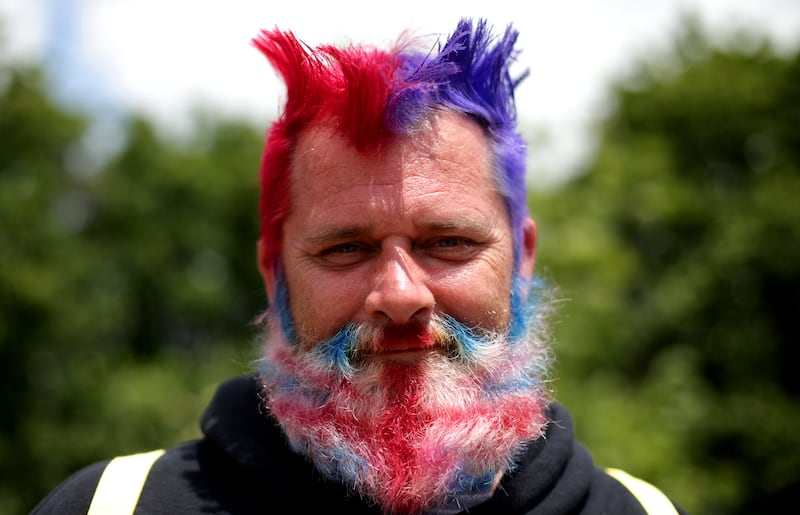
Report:
[[[482,130],[442,114],[368,157],[311,129],[290,192],[283,277],[259,261],[265,406],[292,447],[387,512],[491,493],[544,433],[548,352],[524,293],[511,313],[512,235]],[[532,220],[521,243],[527,278]]]

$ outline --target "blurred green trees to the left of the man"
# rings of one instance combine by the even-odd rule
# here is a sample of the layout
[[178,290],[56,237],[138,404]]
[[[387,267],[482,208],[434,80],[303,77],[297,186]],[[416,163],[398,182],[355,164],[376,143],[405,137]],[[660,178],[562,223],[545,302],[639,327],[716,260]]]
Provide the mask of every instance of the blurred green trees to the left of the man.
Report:
[[99,170],[89,121],[35,69],[0,71],[0,513],[96,459],[197,434],[250,370],[262,134],[198,114],[183,140],[131,119]]

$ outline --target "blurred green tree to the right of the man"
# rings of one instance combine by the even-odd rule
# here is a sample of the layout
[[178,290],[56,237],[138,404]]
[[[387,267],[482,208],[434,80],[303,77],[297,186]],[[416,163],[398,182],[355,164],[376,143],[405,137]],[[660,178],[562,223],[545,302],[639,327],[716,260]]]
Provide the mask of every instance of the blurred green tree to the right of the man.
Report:
[[715,46],[690,20],[611,97],[584,173],[532,199],[566,299],[559,397],[601,462],[691,512],[783,513],[800,500],[800,54]]

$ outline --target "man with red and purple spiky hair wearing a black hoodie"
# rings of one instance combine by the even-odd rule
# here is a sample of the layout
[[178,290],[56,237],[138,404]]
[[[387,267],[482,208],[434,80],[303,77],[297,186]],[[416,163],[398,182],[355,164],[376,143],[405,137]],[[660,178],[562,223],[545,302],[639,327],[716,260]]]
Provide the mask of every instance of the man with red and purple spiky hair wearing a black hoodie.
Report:
[[259,371],[220,388],[202,440],[92,465],[34,512],[682,513],[596,467],[551,399],[516,37],[262,32],[287,98],[261,167]]

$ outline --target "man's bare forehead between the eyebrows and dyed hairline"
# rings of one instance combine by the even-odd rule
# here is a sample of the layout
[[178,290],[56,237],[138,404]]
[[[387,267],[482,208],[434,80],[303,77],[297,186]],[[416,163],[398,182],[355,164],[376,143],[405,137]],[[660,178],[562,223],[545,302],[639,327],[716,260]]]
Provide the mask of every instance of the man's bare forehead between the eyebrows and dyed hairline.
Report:
[[[361,153],[335,128],[306,130],[298,139],[291,168],[292,204],[307,197],[340,194],[391,197],[433,189],[497,196],[483,129],[470,118],[440,113],[378,151]],[[402,186],[397,188],[397,186]]]

